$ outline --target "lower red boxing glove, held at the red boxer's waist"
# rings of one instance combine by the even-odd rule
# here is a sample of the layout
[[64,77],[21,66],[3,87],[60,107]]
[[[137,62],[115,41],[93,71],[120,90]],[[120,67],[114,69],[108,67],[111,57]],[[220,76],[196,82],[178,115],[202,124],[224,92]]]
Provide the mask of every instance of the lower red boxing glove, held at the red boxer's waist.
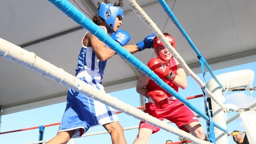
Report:
[[158,109],[164,109],[169,104],[169,98],[162,90],[148,90],[145,96],[153,102]]

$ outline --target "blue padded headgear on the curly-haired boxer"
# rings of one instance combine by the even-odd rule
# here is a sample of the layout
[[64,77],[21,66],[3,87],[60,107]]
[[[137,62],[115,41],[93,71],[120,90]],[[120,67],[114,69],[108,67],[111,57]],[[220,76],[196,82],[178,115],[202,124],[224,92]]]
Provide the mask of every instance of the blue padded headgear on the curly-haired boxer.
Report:
[[110,33],[112,33],[115,25],[115,19],[117,18],[117,16],[120,16],[122,19],[124,12],[122,11],[121,7],[101,2],[97,8],[96,15],[106,21],[108,30]]

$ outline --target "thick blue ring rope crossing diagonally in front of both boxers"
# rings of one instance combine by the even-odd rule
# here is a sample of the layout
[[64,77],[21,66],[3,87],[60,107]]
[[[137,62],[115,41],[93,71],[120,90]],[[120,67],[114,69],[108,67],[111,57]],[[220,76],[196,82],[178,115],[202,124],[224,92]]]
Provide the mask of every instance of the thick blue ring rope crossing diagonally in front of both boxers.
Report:
[[[148,66],[144,65],[139,59],[137,59],[134,55],[132,55],[128,50],[124,49],[120,44],[114,41],[108,34],[106,34],[102,29],[100,29],[95,23],[93,23],[89,18],[87,18],[81,11],[79,11],[75,6],[73,6],[67,0],[48,0],[52,2],[56,7],[58,7],[63,13],[72,18],[75,22],[83,26],[83,28],[87,29],[95,35],[100,41],[104,42],[109,46],[112,50],[114,50],[117,54],[119,54],[123,59],[126,59],[131,65],[135,68],[146,74],[148,78],[152,79],[156,84],[162,87],[164,90],[172,94],[175,98],[183,102],[187,107],[191,110],[195,111],[195,113],[199,114],[205,120],[209,121],[209,117],[206,114],[202,113],[191,105],[189,101],[178,94],[173,88],[167,85],[162,79],[160,79],[152,70],[148,68]],[[213,123],[218,129],[228,133],[226,129],[219,126],[219,124]]]

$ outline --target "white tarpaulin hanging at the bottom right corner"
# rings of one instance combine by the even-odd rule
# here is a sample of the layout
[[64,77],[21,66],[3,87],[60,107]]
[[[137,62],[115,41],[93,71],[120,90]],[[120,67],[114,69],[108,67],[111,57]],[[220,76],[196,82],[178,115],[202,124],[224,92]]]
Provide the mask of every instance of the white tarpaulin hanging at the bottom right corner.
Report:
[[250,144],[256,144],[256,110],[254,111],[242,111],[240,117],[245,128],[245,132]]

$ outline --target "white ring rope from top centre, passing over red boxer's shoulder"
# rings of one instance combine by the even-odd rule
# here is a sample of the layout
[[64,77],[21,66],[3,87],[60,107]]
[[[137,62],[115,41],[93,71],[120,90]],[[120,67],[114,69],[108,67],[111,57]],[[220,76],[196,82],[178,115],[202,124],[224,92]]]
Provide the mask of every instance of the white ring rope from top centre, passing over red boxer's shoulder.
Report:
[[[135,0],[124,0],[132,9],[133,11],[141,18],[141,20],[148,26],[148,28],[155,33],[155,35],[163,42],[163,45],[168,48],[168,50],[173,54],[173,56],[177,59],[177,61],[180,63],[182,68],[184,68],[185,72],[189,74],[192,78],[197,81],[197,83],[200,85],[200,87],[204,88],[204,83],[201,81],[201,79],[187,66],[186,62],[182,57],[176,52],[176,50],[173,48],[173,46],[167,41],[161,30],[156,26],[156,24],[151,20],[150,17],[148,17],[147,13],[143,11],[143,9],[136,3]],[[219,103],[215,96],[207,89],[206,91],[207,95],[210,96],[210,98],[216,102],[223,111],[226,111],[224,105],[222,103]]]

